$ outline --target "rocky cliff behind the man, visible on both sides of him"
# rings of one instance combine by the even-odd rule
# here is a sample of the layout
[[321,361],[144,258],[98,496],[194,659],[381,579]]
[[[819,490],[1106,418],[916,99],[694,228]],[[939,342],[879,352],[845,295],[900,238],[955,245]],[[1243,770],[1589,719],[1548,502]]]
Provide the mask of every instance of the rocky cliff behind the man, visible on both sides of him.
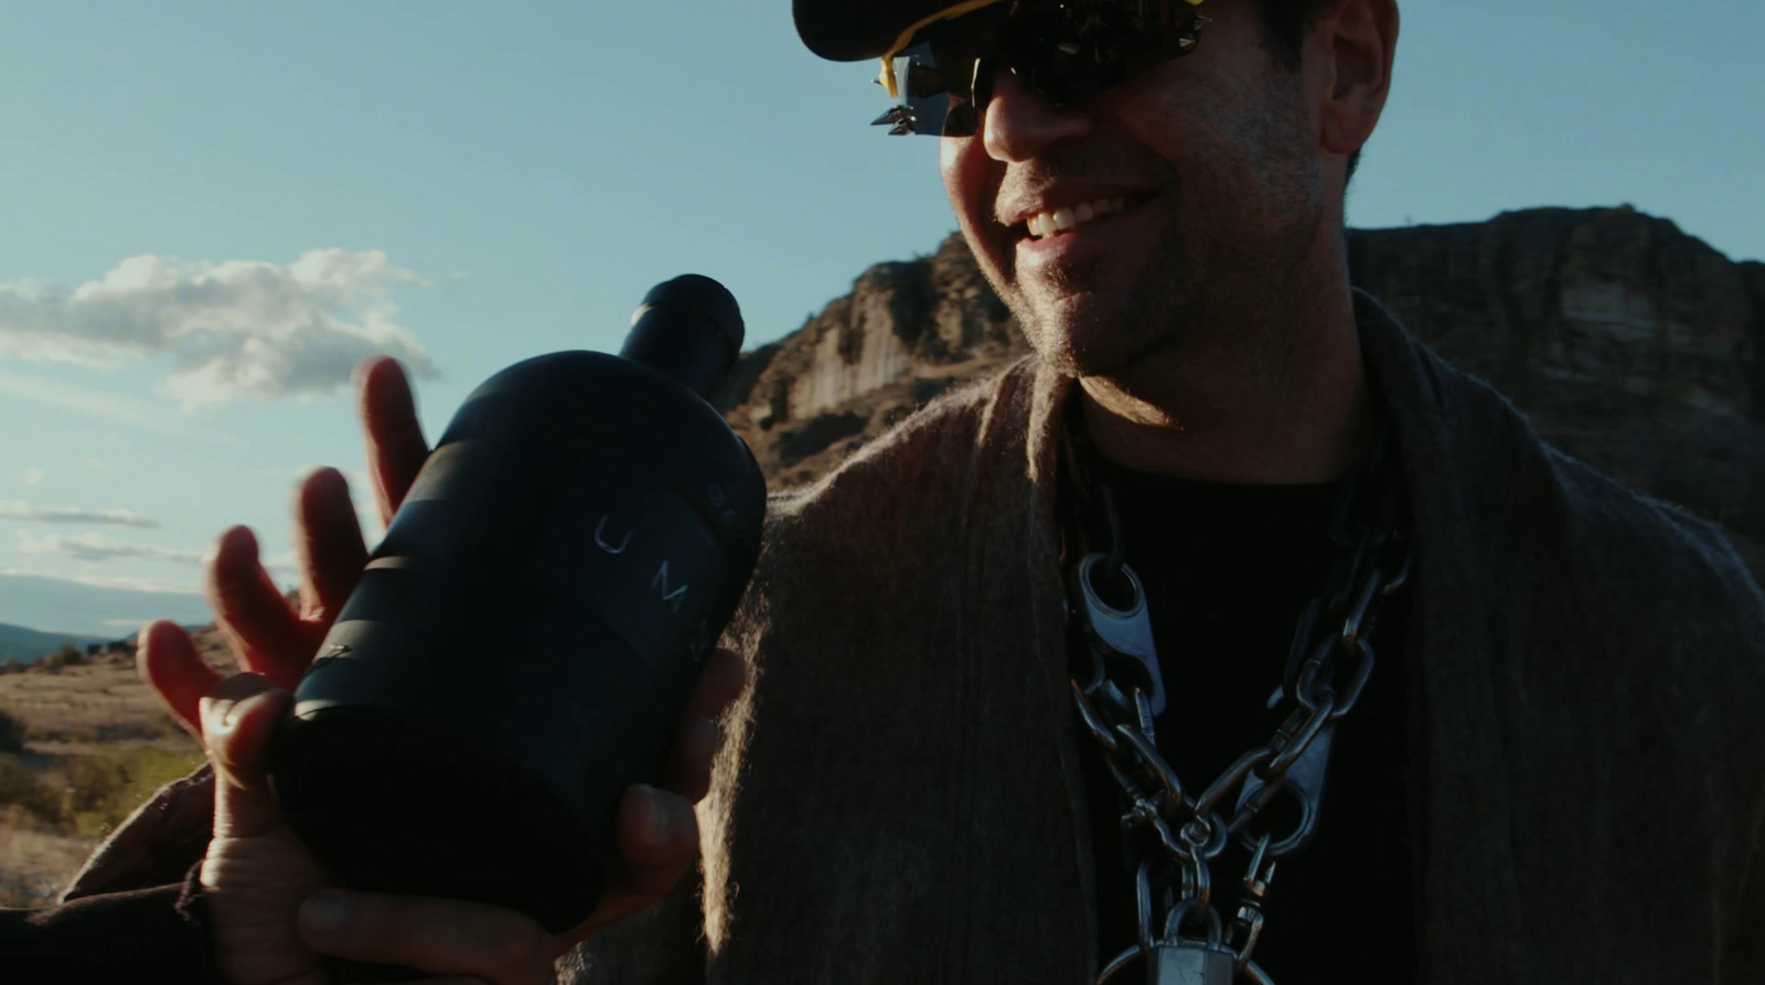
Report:
[[[1627,207],[1354,229],[1348,251],[1356,284],[1550,441],[1721,523],[1765,572],[1765,263]],[[1024,351],[951,237],[747,353],[724,406],[773,484],[794,485]]]

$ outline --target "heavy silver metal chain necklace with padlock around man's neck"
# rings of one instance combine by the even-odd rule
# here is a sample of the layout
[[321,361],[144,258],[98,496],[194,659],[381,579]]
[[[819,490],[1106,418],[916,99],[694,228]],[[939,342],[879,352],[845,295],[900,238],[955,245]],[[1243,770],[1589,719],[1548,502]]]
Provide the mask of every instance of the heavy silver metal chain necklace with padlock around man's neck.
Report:
[[[1068,570],[1068,613],[1082,648],[1073,704],[1121,787],[1124,835],[1142,846],[1133,877],[1138,943],[1103,967],[1098,985],[1126,981],[1124,971],[1135,964],[1144,966],[1149,985],[1230,985],[1239,976],[1271,985],[1253,960],[1264,897],[1276,863],[1303,851],[1317,831],[1336,726],[1373,673],[1378,613],[1410,577],[1403,480],[1389,422],[1377,399],[1373,404],[1366,461],[1340,484],[1331,508],[1329,586],[1301,611],[1281,687],[1269,699],[1269,708],[1283,706],[1287,715],[1267,743],[1198,791],[1158,752],[1153,722],[1165,710],[1167,690],[1145,591],[1124,563],[1114,492],[1091,468],[1096,450],[1082,422],[1073,422],[1077,401],[1070,408],[1063,459],[1078,500],[1070,514],[1078,551],[1070,553],[1077,561]],[[1082,512],[1103,515],[1107,549],[1091,549]],[[1260,823],[1283,793],[1299,807],[1287,833]],[[1221,913],[1232,904],[1221,906],[1213,881],[1228,838],[1250,853],[1230,921]]]

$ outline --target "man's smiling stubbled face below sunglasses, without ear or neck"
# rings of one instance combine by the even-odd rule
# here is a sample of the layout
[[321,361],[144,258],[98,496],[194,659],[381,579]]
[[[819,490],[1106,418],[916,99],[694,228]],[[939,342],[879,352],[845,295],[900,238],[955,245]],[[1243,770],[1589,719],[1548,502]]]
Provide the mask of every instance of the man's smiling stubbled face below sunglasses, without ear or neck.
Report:
[[[1204,12],[1213,23],[1195,53],[1082,106],[1050,106],[999,71],[981,132],[943,139],[944,189],[981,270],[1066,372],[1278,344],[1250,327],[1280,320],[1318,238],[1304,76],[1274,64],[1250,0]],[[1124,208],[1045,238],[1025,222],[1114,205]]]

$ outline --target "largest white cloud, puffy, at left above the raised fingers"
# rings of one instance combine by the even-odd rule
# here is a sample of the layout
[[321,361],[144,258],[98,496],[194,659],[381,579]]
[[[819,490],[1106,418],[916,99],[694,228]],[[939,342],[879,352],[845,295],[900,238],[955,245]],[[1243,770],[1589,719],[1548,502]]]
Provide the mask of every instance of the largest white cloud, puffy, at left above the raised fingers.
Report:
[[0,284],[0,357],[109,367],[169,355],[161,388],[185,410],[312,397],[371,355],[434,372],[388,300],[418,284],[381,251],[312,249],[288,265],[131,256],[72,289]]

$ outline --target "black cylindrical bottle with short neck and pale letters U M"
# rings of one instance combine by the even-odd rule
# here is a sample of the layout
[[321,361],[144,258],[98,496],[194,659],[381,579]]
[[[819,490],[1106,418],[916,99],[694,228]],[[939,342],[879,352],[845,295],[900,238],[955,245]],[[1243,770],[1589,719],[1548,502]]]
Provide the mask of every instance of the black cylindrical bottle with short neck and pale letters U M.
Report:
[[741,350],[697,275],[620,357],[478,387],[424,462],[270,741],[300,838],[360,890],[492,902],[560,932],[658,782],[759,556],[766,485],[706,395]]

